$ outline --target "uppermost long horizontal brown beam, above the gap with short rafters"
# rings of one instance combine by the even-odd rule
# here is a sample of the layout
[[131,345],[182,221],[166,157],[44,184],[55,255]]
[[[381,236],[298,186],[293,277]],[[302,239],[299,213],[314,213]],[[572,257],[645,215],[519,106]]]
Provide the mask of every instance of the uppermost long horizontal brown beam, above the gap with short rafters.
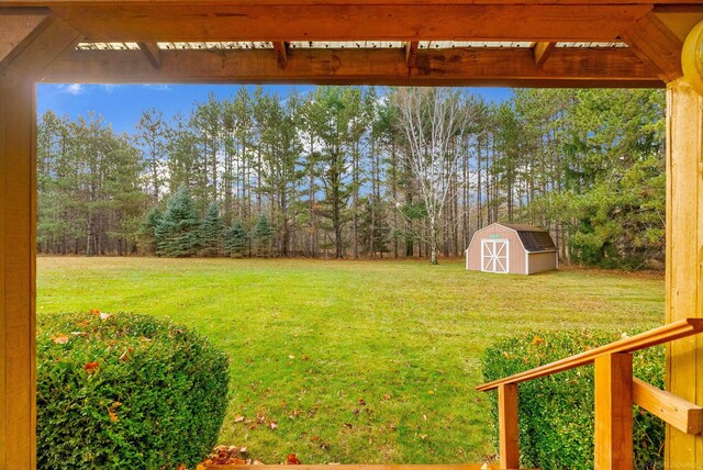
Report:
[[93,2],[53,7],[92,42],[614,41],[650,4]]

